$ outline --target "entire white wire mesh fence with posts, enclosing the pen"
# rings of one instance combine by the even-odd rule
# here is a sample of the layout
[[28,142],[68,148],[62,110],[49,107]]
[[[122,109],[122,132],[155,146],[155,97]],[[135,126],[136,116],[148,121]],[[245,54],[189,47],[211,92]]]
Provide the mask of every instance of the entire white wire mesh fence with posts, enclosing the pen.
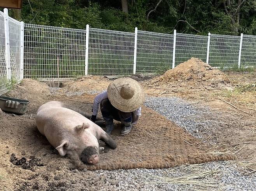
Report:
[[191,57],[219,69],[256,67],[256,36],[24,25],[9,17],[7,9],[0,12],[0,95],[23,77],[68,80],[88,74],[157,74]]

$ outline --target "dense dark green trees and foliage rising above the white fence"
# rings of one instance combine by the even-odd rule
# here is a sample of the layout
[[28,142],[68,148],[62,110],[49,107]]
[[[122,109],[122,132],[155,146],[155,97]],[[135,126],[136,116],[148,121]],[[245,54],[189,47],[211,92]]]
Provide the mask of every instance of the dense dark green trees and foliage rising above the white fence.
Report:
[[[23,0],[21,16],[26,23],[78,29],[89,24],[93,28],[128,32],[138,27],[161,33],[173,33],[176,29],[179,33],[201,35],[256,35],[256,0],[242,1],[239,13],[238,2],[162,0],[156,7],[158,1],[128,0],[126,14],[122,12],[121,0]],[[12,10],[9,12],[12,16]]]

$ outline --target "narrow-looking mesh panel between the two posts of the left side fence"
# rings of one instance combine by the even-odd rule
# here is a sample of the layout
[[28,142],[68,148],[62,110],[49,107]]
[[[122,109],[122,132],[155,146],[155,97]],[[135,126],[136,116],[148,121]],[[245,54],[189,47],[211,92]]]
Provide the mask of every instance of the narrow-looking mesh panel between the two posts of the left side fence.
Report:
[[10,63],[12,79],[20,79],[21,62],[21,23],[9,17],[9,42],[10,42]]

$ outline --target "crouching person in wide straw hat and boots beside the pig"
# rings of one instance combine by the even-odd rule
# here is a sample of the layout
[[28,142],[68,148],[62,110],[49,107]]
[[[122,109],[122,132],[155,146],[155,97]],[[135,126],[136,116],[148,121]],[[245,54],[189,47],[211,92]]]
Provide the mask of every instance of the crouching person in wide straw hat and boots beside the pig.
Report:
[[109,84],[106,91],[95,97],[91,120],[95,122],[100,104],[106,132],[111,134],[115,119],[122,123],[121,135],[128,134],[141,115],[144,100],[144,91],[137,81],[129,77],[116,79]]

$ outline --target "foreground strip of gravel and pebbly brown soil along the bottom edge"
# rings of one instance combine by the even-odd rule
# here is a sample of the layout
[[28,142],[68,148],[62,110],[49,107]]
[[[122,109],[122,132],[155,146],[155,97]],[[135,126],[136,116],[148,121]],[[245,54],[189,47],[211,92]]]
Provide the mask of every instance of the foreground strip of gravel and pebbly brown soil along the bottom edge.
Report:
[[35,185],[28,183],[29,187],[25,184],[19,190],[26,191],[36,187],[39,190],[54,191],[255,191],[256,176],[245,175],[246,173],[248,170],[244,166],[228,161],[182,165],[170,169],[75,169],[68,176],[56,172],[47,181],[48,189],[41,181],[35,181]]

